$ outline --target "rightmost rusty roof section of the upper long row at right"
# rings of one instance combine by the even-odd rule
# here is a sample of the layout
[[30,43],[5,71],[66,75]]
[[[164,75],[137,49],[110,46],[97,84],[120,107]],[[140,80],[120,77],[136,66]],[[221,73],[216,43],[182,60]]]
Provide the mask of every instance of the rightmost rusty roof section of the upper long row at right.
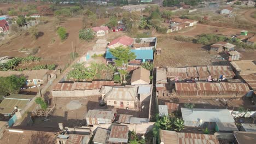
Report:
[[211,76],[235,76],[235,73],[229,65],[208,65],[207,68]]

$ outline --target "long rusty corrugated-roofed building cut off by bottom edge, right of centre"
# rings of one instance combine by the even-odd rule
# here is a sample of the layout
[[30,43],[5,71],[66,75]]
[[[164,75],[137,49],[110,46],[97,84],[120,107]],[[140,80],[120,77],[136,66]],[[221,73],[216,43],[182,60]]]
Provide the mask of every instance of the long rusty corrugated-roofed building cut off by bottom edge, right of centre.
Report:
[[159,139],[161,144],[177,143],[202,143],[219,144],[215,135],[195,134],[195,133],[177,133],[176,131],[159,130]]

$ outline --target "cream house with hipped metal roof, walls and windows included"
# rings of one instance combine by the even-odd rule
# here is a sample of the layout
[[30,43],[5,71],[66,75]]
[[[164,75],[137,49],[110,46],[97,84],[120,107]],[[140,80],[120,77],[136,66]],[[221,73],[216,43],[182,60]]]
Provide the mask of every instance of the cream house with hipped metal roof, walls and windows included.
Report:
[[113,87],[103,99],[108,106],[135,109],[138,102],[137,87]]

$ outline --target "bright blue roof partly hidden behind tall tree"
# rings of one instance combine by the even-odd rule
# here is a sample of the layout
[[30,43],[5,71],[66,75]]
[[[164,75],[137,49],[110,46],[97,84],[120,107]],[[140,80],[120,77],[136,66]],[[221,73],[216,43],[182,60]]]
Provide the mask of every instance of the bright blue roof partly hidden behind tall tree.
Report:
[[[153,50],[131,50],[136,55],[136,59],[150,59],[153,60],[154,51]],[[115,58],[107,49],[106,58]]]

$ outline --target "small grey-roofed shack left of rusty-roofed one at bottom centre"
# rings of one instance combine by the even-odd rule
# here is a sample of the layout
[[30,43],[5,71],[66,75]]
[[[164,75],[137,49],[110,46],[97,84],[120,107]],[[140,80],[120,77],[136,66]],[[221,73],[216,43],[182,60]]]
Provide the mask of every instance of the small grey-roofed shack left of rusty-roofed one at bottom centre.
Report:
[[97,128],[94,139],[92,141],[94,144],[106,144],[108,143],[109,135],[110,131],[108,129]]

